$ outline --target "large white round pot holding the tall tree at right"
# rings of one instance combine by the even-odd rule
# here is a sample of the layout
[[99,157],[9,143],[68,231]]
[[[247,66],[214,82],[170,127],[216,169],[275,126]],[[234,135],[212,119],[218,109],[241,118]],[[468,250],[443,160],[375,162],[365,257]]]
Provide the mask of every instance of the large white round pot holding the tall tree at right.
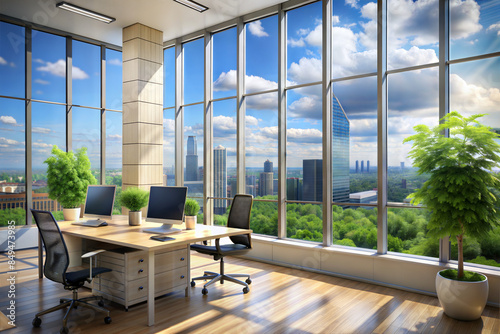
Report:
[[447,316],[457,320],[481,317],[488,301],[488,278],[481,282],[463,282],[436,275],[436,292]]

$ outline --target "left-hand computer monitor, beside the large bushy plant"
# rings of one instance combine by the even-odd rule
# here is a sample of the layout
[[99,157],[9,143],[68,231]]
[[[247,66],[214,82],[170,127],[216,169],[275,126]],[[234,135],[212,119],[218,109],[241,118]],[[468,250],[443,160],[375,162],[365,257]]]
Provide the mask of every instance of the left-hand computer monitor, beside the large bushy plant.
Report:
[[85,218],[111,219],[115,204],[115,185],[88,186],[85,199]]

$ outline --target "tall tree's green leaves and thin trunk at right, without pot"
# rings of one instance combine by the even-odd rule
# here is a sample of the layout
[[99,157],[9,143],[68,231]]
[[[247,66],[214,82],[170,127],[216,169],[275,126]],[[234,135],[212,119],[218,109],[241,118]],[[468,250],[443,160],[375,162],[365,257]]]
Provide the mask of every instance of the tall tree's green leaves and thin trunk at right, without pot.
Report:
[[[414,127],[409,156],[419,173],[429,179],[411,194],[412,203],[424,204],[432,213],[427,225],[432,237],[455,236],[458,246],[458,278],[464,276],[464,236],[481,238],[500,225],[499,180],[492,169],[500,162],[498,134],[481,124],[477,114],[463,117],[451,112],[432,129]],[[449,137],[444,133],[449,131]]]

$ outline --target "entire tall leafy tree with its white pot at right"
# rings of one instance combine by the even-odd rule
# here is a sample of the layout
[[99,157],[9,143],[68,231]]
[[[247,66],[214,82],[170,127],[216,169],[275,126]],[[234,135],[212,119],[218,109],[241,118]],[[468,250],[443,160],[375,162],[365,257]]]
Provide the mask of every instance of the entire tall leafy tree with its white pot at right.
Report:
[[422,203],[431,212],[428,235],[456,238],[457,269],[437,273],[436,292],[444,312],[459,320],[480,318],[488,299],[487,277],[464,271],[464,238],[481,238],[500,225],[492,191],[500,187],[493,173],[500,162],[499,136],[477,120],[483,116],[451,112],[432,129],[414,127],[416,134],[404,140],[413,142],[413,166],[429,174],[410,195],[413,204]]

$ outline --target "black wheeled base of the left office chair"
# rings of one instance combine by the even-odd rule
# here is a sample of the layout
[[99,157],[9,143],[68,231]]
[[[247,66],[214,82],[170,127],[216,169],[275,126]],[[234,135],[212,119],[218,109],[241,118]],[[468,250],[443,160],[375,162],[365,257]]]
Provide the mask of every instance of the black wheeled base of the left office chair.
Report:
[[[91,301],[91,300],[99,300],[99,306],[94,305],[94,304],[90,304],[88,301]],[[63,318],[63,327],[61,328],[61,331],[60,331],[61,333],[68,333],[67,323],[68,323],[69,314],[70,314],[72,309],[77,308],[78,306],[83,306],[83,307],[92,309],[94,311],[100,311],[100,312],[106,313],[106,317],[104,318],[104,322],[106,324],[109,324],[109,323],[111,323],[111,318],[109,316],[109,310],[105,309],[104,307],[101,307],[101,305],[104,305],[103,299],[101,296],[91,296],[91,297],[85,297],[85,298],[79,299],[78,292],[76,290],[73,290],[73,298],[71,298],[71,299],[70,298],[61,298],[59,305],[56,305],[56,306],[51,307],[47,310],[38,312],[35,315],[35,319],[33,319],[32,324],[34,327],[40,327],[40,324],[42,323],[40,316],[55,312],[57,310],[66,308],[68,306],[69,306],[69,308],[66,311],[66,314],[64,315],[64,318]]]

